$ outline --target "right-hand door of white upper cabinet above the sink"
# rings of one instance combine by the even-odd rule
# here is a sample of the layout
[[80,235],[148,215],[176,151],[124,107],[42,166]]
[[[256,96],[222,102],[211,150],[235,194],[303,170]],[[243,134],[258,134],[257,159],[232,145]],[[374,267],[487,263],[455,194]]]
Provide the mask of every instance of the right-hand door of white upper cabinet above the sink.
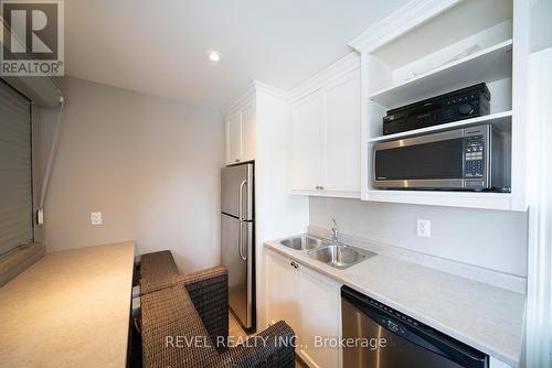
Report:
[[360,192],[360,69],[325,87],[325,191]]

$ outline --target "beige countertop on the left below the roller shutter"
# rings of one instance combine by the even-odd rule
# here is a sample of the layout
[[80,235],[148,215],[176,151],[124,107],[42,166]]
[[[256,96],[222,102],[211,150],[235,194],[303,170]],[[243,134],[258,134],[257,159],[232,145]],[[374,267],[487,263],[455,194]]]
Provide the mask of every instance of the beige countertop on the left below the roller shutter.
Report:
[[46,253],[0,288],[0,367],[126,366],[135,242]]

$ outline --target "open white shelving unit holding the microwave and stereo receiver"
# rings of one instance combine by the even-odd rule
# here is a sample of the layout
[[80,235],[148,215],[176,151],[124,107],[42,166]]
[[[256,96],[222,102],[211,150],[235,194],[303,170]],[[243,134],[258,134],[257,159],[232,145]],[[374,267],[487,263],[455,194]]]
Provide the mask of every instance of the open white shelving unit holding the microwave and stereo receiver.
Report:
[[[529,19],[524,12],[516,11],[512,0],[447,1],[446,9],[434,8],[433,12],[420,4],[406,8],[379,25],[384,31],[378,29],[376,35],[367,33],[358,43],[364,72],[361,199],[527,210],[530,121],[524,118],[528,104],[523,80]],[[452,61],[476,46],[480,47],[477,52]],[[486,83],[491,93],[490,115],[382,136],[382,118],[388,110],[480,83]],[[372,186],[375,143],[485,123],[497,127],[503,138],[505,161],[498,164],[508,170],[511,193],[394,191]]]

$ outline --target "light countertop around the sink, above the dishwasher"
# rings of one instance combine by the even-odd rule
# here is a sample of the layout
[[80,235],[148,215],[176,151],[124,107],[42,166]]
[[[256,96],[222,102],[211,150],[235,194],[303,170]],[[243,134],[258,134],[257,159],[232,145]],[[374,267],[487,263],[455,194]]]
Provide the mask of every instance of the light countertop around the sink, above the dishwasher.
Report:
[[265,247],[323,273],[491,357],[517,367],[526,295],[389,256],[338,270],[284,247]]

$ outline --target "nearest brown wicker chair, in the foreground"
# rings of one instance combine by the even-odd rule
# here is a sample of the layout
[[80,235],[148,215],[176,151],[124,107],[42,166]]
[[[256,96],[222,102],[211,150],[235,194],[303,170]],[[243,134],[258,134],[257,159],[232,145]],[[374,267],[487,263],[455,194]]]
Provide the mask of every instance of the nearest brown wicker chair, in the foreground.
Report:
[[223,267],[180,274],[141,296],[144,367],[294,367],[294,331],[278,322],[257,344],[226,347],[229,283]]

